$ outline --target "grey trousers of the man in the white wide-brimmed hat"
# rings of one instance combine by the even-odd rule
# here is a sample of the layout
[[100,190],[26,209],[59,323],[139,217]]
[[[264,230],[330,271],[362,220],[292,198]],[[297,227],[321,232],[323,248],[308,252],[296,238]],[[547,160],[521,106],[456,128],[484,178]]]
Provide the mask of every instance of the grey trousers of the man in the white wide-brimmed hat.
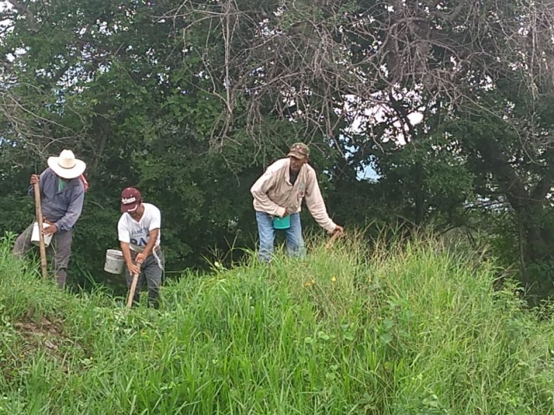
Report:
[[[12,254],[21,259],[33,247],[30,242],[31,234],[33,233],[33,224],[24,230],[15,240]],[[73,241],[73,231],[66,230],[64,232],[56,232],[50,245],[46,248],[48,255],[51,255],[51,269],[57,277],[57,286],[64,288],[67,279],[67,266],[69,257],[71,256],[71,242]]]

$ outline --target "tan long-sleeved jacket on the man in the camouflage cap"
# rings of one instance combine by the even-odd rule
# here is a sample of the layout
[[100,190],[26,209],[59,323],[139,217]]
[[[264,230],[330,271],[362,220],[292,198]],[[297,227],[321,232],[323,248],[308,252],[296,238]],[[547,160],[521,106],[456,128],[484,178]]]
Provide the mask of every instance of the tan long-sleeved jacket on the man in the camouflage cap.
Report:
[[267,167],[250,189],[254,197],[254,210],[282,217],[285,208],[300,212],[302,199],[321,228],[332,232],[337,225],[330,219],[319,190],[316,172],[310,165],[303,165],[294,186],[290,184],[289,159],[281,158]]

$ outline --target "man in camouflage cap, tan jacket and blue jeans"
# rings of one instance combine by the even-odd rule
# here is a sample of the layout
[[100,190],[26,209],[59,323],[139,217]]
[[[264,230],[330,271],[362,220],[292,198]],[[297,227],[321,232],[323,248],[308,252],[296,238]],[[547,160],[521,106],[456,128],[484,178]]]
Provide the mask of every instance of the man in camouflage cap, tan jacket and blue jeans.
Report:
[[307,164],[309,160],[310,148],[297,142],[290,147],[287,158],[281,158],[267,167],[250,189],[258,222],[258,255],[262,261],[269,262],[274,251],[274,217],[290,216],[289,228],[285,229],[287,252],[289,255],[303,255],[304,240],[299,214],[303,199],[321,228],[329,233],[344,231],[327,213],[316,172]]

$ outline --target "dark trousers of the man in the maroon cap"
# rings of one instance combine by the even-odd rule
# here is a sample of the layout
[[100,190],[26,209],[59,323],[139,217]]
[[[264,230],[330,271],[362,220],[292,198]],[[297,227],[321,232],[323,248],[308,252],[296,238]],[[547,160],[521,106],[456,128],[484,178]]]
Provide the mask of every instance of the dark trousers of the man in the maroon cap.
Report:
[[[137,252],[131,251],[131,258],[136,258]],[[140,291],[146,279],[146,285],[148,286],[148,305],[154,308],[159,308],[159,291],[161,286],[161,275],[163,273],[163,252],[160,248],[155,250],[155,255],[150,254],[143,261],[141,266],[141,273],[139,279],[136,282],[136,290],[134,291],[133,304],[139,304],[141,299]],[[133,276],[129,273],[129,270],[125,269],[125,279],[127,281],[127,288],[131,287],[133,282]]]

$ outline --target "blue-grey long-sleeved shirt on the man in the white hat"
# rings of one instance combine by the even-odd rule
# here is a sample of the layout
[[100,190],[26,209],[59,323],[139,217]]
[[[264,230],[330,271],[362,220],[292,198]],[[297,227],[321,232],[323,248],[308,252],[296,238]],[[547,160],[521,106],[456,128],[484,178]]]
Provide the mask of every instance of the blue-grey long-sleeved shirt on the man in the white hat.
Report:
[[[60,178],[50,169],[40,174],[42,216],[55,223],[60,232],[71,230],[81,216],[84,201],[84,185],[79,178],[66,181],[59,189]],[[29,186],[29,196],[35,198],[35,187]]]

